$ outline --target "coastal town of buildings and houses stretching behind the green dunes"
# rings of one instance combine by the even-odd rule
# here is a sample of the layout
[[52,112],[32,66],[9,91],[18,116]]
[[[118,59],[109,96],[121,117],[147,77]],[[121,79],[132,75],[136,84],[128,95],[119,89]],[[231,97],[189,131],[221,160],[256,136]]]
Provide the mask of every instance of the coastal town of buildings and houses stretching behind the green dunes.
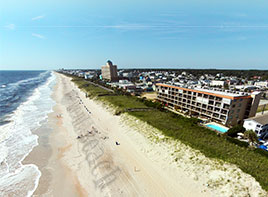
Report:
[[117,69],[110,60],[100,70],[60,72],[161,103],[167,110],[198,118],[203,126],[219,134],[230,133],[242,142],[251,143],[248,135],[255,135],[254,145],[268,151],[266,76],[236,76],[226,71],[195,74],[194,70]]

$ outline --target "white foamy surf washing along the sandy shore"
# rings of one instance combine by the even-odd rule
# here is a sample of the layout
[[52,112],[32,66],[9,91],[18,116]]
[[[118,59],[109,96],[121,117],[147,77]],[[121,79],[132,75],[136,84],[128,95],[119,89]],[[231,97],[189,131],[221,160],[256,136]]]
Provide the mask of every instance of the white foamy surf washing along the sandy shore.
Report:
[[21,162],[38,145],[38,136],[32,130],[40,127],[52,112],[54,101],[50,95],[54,83],[52,74],[17,108],[11,122],[0,126],[0,196],[31,196],[38,185],[38,167]]

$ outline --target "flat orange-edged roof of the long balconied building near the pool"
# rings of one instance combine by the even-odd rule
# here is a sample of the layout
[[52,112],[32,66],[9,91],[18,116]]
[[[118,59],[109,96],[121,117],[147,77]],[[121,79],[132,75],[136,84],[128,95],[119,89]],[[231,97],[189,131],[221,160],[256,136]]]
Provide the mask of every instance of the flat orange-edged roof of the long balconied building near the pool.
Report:
[[[240,99],[240,98],[251,98],[251,96],[249,94],[245,94],[244,95],[239,92],[232,92],[232,91],[219,91],[216,90],[214,88],[212,89],[205,89],[205,88],[198,88],[198,87],[180,87],[177,85],[170,85],[170,84],[161,84],[161,83],[157,83],[156,85],[158,86],[164,86],[164,87],[171,87],[171,88],[176,88],[176,89],[182,89],[182,90],[187,90],[187,91],[192,91],[192,92],[198,92],[198,93],[205,93],[208,95],[212,95],[212,96],[218,96],[218,97],[222,97],[222,98],[228,98],[228,99]],[[255,94],[255,93],[254,93]]]

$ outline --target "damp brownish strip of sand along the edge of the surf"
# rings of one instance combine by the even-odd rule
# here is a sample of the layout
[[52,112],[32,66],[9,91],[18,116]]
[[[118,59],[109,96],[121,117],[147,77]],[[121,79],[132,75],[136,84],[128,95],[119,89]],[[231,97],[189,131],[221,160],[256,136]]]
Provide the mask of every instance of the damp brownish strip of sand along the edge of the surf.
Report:
[[[41,172],[39,183],[32,196],[60,195],[82,196],[79,183],[73,177],[72,172],[60,160],[59,154],[63,154],[62,147],[66,142],[60,142],[59,133],[64,129],[62,121],[57,117],[60,114],[60,105],[56,99],[58,78],[53,87],[52,99],[56,102],[53,112],[48,114],[47,122],[32,133],[38,136],[38,145],[22,161],[23,165],[34,164]],[[56,173],[55,173],[56,172]],[[64,180],[64,181],[63,181]],[[66,189],[66,186],[68,186]]]

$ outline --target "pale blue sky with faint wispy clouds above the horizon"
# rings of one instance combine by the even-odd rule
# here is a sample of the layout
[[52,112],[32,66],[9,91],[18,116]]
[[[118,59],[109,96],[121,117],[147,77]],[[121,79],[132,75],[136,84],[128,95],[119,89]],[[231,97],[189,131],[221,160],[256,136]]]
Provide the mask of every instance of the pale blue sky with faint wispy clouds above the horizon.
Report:
[[268,69],[267,0],[0,1],[0,70]]

